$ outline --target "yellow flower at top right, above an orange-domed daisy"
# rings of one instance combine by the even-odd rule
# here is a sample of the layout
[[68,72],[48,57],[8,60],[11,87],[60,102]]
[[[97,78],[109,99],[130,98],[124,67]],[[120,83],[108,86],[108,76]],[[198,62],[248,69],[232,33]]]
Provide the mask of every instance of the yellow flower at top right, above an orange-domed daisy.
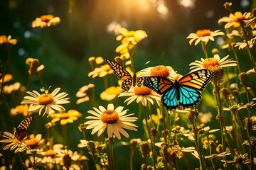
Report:
[[242,14],[240,11],[233,13],[230,13],[229,16],[224,16],[223,18],[220,18],[218,20],[218,23],[226,23],[224,28],[238,28],[240,26],[240,23],[243,23],[244,21],[249,18],[251,13],[244,13]]

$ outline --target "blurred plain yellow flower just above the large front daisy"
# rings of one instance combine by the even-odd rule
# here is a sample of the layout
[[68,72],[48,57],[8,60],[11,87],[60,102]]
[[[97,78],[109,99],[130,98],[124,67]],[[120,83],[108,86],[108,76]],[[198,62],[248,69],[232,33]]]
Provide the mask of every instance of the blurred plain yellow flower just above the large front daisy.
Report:
[[105,89],[105,91],[102,91],[102,93],[100,94],[100,98],[104,101],[111,101],[116,96],[121,94],[122,91],[124,91],[124,90],[120,86],[117,86],[117,87],[111,86],[111,87]]

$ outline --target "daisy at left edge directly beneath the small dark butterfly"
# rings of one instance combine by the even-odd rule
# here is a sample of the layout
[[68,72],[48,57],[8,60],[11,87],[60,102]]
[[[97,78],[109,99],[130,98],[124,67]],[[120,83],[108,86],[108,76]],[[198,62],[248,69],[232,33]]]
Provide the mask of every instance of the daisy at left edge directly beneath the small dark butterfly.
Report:
[[27,137],[24,137],[23,140],[18,140],[18,138],[14,134],[11,134],[10,132],[4,132],[3,137],[5,137],[6,139],[0,140],[0,142],[9,143],[8,145],[3,147],[4,150],[9,148],[10,150],[15,149],[14,150],[15,153],[23,152],[24,150],[26,150],[27,147],[24,143],[24,140],[26,140]]

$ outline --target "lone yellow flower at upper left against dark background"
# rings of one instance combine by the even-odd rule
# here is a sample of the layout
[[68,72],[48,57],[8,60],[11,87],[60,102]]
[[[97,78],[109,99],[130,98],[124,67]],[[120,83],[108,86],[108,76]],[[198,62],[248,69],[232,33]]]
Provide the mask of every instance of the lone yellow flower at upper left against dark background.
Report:
[[53,15],[43,15],[40,18],[36,18],[35,21],[32,22],[32,27],[41,27],[44,28],[46,26],[55,26],[58,23],[60,23],[60,18],[59,17],[54,17]]

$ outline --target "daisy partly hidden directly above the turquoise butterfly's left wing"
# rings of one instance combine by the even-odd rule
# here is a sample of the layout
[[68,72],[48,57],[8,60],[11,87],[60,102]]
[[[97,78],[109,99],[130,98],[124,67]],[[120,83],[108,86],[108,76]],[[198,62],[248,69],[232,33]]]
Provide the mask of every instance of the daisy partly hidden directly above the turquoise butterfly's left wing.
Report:
[[142,69],[137,73],[137,77],[166,77],[173,79],[176,77],[176,72],[171,66],[159,65]]

